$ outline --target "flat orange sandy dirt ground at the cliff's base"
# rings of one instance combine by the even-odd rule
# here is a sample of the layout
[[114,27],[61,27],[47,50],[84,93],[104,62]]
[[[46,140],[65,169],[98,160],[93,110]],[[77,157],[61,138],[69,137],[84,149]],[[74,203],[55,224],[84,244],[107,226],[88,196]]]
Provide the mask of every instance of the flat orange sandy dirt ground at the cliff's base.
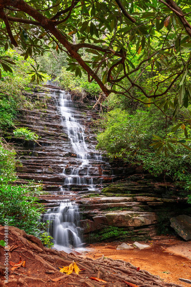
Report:
[[[157,239],[148,241],[146,244],[150,245],[150,248],[143,250],[117,250],[116,247],[121,242],[92,244],[88,247],[90,252],[84,252],[84,256],[97,259],[104,254],[112,259],[122,259],[140,269],[146,269],[151,274],[159,275],[166,282],[191,286],[178,280],[191,280],[191,241],[181,241],[172,236]],[[125,243],[133,244],[132,241]],[[141,241],[139,243],[145,244]]]

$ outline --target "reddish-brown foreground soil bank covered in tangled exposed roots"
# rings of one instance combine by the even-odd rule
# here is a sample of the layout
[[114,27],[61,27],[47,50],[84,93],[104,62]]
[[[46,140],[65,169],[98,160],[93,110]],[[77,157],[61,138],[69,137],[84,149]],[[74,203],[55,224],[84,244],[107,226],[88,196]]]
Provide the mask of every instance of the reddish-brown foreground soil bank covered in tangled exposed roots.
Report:
[[[0,227],[0,235],[1,235],[0,239],[4,239],[3,226]],[[111,257],[112,256],[115,257],[114,253],[116,253],[117,251],[115,250],[114,246],[113,249],[111,247],[106,248],[108,246],[103,245],[102,247],[104,248],[105,251],[107,250],[108,252],[113,253],[111,254]],[[138,250],[135,250],[135,252],[137,254],[137,257],[138,254],[142,253],[142,251],[140,252]],[[1,247],[0,253],[1,253],[0,280],[2,280],[0,282],[0,286],[8,286],[8,287],[9,286],[11,287],[186,286],[185,284],[183,285],[181,282],[175,282],[175,283],[164,282],[160,280],[159,276],[155,276],[149,273],[147,270],[142,270],[141,268],[140,270],[137,270],[137,267],[123,260],[119,259],[113,260],[111,258],[105,258],[104,256],[94,260],[88,257],[84,258],[81,255],[80,256],[75,255],[74,253],[67,254],[64,251],[57,251],[54,249],[45,248],[42,245],[42,242],[38,238],[32,235],[27,235],[23,230],[20,230],[12,226],[9,227],[8,251],[5,251],[4,247]],[[9,254],[9,265],[8,265],[9,279],[8,283],[5,284],[5,282],[3,282],[6,279],[4,278],[4,272],[5,272],[4,262],[6,261],[5,254],[7,253]],[[149,255],[147,256],[149,257]],[[20,266],[15,270],[11,270],[11,268],[13,268],[12,267],[13,264],[12,265],[10,264],[11,261],[14,263],[18,263],[20,259],[22,261],[25,261],[25,265]],[[62,268],[62,266],[69,266],[71,263],[74,262],[76,262],[78,267],[81,269],[79,275],[77,275],[74,272],[70,275],[66,275],[65,273],[63,274],[59,271],[60,270],[59,267]],[[143,267],[145,268],[144,264]],[[91,279],[92,277],[99,278],[98,280],[101,279],[104,280],[105,282],[93,281]],[[127,284],[126,282],[129,282],[129,284]]]

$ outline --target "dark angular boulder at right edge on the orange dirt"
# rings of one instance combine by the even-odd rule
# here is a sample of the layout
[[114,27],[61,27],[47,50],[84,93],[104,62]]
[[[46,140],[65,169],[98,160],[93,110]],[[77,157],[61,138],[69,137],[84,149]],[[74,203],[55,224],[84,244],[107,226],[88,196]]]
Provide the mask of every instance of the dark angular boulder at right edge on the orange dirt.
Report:
[[180,235],[184,240],[191,240],[191,217],[187,215],[179,215],[170,218],[170,226]]

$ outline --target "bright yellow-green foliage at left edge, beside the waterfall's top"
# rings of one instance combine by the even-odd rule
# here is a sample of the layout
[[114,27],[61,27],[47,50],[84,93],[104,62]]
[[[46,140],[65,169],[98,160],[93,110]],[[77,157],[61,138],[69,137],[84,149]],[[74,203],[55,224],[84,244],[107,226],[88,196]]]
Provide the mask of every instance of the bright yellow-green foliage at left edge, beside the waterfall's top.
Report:
[[[3,131],[13,125],[13,120],[20,109],[38,108],[39,102],[32,102],[30,98],[32,86],[30,76],[27,74],[31,64],[35,62],[31,58],[23,61],[23,57],[14,50],[0,48],[0,55],[11,59],[17,65],[13,66],[13,73],[2,71],[0,79],[0,129]],[[48,75],[46,80],[50,79]]]

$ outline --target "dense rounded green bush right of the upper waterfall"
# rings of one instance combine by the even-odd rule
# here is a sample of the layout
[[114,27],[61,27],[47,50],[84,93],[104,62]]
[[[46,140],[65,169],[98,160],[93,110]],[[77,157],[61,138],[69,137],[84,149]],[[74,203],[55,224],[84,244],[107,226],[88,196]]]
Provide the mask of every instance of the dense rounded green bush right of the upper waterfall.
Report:
[[[185,109],[185,113],[189,111]],[[184,130],[171,132],[174,124],[168,122],[167,134],[170,137],[176,135],[184,139]],[[191,163],[190,152],[185,151],[178,142],[173,143],[174,152],[155,154],[155,146],[150,145],[153,133],[165,136],[166,129],[164,118],[157,108],[137,109],[130,114],[127,110],[111,110],[103,120],[105,131],[97,136],[97,148],[107,150],[111,160],[116,158],[123,160],[126,164],[141,165],[145,170],[158,176],[161,173],[174,176],[174,180],[184,181],[187,191],[190,189],[191,177],[188,166]],[[190,131],[189,137],[190,137]],[[190,147],[190,144],[188,144]]]

